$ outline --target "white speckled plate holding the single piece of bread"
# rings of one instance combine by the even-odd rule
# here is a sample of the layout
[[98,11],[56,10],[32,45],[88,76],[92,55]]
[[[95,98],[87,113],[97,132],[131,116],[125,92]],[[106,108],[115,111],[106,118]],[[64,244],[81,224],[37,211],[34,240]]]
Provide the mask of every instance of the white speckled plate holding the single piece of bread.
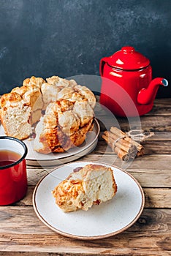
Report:
[[[88,211],[64,213],[55,203],[52,190],[75,167],[88,164],[111,167],[118,186],[112,200],[94,205]],[[140,184],[129,173],[102,162],[72,162],[44,176],[34,189],[33,205],[39,219],[57,233],[78,239],[106,238],[123,232],[140,217],[145,199]]]

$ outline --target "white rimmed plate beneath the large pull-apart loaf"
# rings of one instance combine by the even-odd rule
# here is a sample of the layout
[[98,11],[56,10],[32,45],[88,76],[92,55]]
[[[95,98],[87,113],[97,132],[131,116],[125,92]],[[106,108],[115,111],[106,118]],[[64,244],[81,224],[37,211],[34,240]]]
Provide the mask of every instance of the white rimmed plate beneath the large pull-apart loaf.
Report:
[[[51,154],[40,154],[34,151],[34,139],[23,140],[28,148],[28,154],[26,156],[27,165],[34,165],[42,167],[61,165],[66,162],[72,162],[80,157],[90,153],[96,147],[99,136],[99,123],[94,119],[94,129],[87,133],[86,140],[82,145],[75,148],[71,148],[64,153],[51,153]],[[0,136],[4,136],[4,128],[0,126]]]

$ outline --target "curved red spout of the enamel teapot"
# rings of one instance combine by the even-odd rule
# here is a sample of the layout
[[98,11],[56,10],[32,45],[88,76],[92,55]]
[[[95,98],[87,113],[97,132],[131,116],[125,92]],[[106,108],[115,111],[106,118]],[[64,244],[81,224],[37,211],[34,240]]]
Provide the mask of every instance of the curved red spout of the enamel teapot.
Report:
[[168,86],[168,81],[165,78],[154,78],[151,80],[148,88],[142,88],[137,96],[137,102],[142,105],[148,105],[153,102],[156,97],[159,86]]

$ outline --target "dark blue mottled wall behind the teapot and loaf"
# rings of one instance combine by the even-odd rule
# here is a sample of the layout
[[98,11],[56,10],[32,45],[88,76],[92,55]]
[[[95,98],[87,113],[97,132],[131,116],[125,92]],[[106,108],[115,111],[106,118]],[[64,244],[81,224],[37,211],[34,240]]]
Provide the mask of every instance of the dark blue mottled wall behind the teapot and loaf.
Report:
[[0,0],[0,94],[31,75],[99,75],[99,60],[123,45],[170,81],[170,24],[170,0]]

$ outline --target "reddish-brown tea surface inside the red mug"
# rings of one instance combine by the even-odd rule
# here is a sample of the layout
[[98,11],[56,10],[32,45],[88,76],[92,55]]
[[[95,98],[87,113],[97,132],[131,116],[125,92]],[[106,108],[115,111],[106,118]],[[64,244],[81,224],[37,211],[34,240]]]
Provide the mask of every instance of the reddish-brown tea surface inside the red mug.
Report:
[[0,166],[11,165],[17,162],[21,158],[21,155],[14,151],[0,150]]

